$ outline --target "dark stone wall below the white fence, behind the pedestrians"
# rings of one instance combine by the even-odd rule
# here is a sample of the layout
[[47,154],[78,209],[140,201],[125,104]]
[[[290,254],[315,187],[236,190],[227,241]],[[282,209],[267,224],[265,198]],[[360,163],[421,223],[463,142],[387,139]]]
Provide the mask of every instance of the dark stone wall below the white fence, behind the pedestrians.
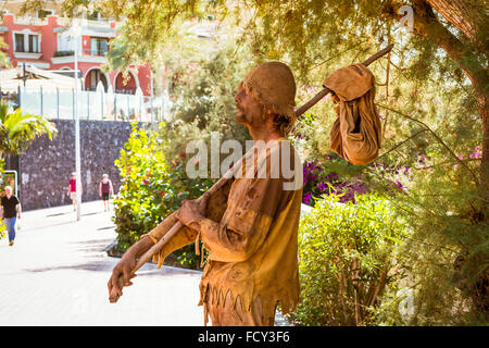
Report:
[[[24,210],[70,204],[67,185],[75,172],[75,122],[53,121],[58,136],[36,139],[20,157],[20,198]],[[114,191],[121,186],[117,167],[121,149],[130,135],[130,123],[80,121],[82,201],[99,198],[102,174],[109,174]]]

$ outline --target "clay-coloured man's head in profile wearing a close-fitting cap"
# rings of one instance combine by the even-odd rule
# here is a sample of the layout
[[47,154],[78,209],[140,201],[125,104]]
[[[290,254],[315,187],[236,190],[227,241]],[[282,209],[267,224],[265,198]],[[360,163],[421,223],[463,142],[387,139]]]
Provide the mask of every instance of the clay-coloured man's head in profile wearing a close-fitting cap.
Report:
[[289,66],[267,62],[244,77],[235,96],[236,121],[251,128],[287,133],[296,122],[296,82]]

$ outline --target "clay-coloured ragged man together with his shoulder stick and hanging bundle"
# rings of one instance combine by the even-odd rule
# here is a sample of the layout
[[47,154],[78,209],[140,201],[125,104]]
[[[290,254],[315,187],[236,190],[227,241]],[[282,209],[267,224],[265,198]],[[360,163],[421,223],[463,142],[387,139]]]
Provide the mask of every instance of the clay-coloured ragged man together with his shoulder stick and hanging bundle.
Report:
[[253,69],[235,96],[236,121],[248,127],[255,145],[263,146],[254,147],[251,156],[247,152],[230,177],[226,173],[200,199],[184,201],[126,251],[109,281],[111,302],[122,296],[123,286],[133,284],[134,272],[155,250],[160,266],[166,256],[193,240],[198,250],[202,239],[210,250],[200,283],[205,324],[210,315],[213,325],[273,325],[278,303],[283,313],[294,309],[300,290],[302,165],[286,130],[333,92],[339,105],[331,150],[356,165],[375,160],[381,127],[374,103],[375,78],[366,66],[391,49],[392,45],[362,64],[334,72],[324,89],[297,110],[296,82],[286,64],[267,62]]

